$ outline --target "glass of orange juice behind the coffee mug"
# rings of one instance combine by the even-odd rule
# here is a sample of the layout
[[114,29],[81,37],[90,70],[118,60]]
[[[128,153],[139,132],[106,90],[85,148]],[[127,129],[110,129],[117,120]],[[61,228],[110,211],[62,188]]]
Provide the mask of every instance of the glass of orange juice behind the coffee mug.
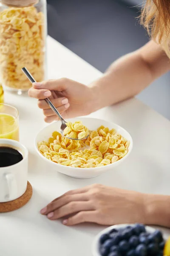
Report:
[[7,104],[0,104],[0,139],[19,141],[19,113]]

